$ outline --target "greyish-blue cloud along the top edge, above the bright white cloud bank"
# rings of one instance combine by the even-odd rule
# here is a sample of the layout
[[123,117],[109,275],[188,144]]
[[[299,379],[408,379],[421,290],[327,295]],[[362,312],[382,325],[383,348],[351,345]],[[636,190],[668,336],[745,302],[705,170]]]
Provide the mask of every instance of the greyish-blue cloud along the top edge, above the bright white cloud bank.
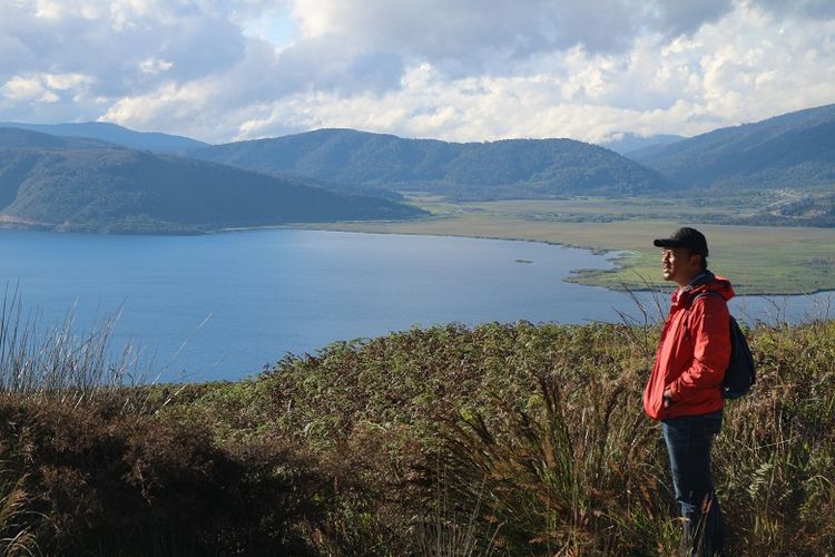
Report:
[[645,32],[692,32],[730,6],[730,0],[297,0],[293,13],[306,38],[396,51],[460,76],[508,71],[510,61],[576,46],[623,51]]

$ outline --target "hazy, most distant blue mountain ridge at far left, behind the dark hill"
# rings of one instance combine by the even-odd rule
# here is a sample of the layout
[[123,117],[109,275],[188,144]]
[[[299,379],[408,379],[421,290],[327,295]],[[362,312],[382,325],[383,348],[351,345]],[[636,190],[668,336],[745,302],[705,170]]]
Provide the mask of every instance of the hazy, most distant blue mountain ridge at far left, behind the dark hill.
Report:
[[0,123],[0,127],[28,129],[53,136],[88,137],[129,149],[151,150],[154,153],[184,153],[205,147],[207,144],[188,137],[168,134],[134,131],[116,124],[88,121],[85,124],[20,124]]

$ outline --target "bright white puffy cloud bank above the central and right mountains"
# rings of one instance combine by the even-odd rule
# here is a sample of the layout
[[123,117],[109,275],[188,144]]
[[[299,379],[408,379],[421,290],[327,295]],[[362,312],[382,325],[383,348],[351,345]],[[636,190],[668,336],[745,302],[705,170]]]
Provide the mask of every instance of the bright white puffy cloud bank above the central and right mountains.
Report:
[[835,75],[835,49],[821,32],[833,36],[835,22],[741,4],[689,37],[645,36],[622,53],[547,52],[515,75],[451,79],[421,62],[383,92],[320,89],[262,102],[236,138],[317,127],[451,140],[695,135],[834,101],[835,84],[819,76]]

